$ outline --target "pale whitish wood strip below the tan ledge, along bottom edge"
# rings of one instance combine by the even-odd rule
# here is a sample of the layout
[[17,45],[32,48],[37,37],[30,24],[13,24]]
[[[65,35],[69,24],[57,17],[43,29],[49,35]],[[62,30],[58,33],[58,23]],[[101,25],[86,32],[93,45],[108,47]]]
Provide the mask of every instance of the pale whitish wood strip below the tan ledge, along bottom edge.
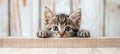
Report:
[[0,48],[1,54],[120,54],[120,48]]

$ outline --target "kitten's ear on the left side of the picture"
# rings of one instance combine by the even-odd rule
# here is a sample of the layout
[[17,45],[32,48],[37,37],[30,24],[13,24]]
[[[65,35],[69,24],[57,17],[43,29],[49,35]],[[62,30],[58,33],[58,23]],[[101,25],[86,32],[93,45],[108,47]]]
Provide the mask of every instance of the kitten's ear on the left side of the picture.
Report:
[[44,16],[45,16],[45,24],[48,24],[50,20],[53,19],[54,14],[48,7],[45,7]]

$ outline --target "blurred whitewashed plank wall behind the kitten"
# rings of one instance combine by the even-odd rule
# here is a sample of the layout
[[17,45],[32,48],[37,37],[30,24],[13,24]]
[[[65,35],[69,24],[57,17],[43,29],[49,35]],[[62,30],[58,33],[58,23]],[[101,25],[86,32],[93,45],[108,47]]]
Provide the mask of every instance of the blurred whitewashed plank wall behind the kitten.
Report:
[[45,6],[56,14],[81,9],[80,29],[120,37],[120,0],[0,0],[0,37],[35,37],[44,29]]

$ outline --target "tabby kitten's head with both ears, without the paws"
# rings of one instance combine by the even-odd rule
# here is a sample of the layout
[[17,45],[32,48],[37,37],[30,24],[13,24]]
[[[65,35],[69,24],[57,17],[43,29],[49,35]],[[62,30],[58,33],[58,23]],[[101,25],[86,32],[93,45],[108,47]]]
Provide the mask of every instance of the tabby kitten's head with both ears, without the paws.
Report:
[[79,30],[81,20],[81,10],[74,11],[71,15],[55,15],[49,8],[45,7],[45,26],[54,36],[71,36]]

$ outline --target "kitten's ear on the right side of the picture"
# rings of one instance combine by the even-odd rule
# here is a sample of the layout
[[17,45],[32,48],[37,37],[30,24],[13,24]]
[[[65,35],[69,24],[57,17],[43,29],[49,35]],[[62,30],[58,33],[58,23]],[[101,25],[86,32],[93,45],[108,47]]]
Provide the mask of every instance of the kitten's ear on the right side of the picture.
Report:
[[74,11],[69,17],[75,24],[79,25],[81,21],[81,9]]

